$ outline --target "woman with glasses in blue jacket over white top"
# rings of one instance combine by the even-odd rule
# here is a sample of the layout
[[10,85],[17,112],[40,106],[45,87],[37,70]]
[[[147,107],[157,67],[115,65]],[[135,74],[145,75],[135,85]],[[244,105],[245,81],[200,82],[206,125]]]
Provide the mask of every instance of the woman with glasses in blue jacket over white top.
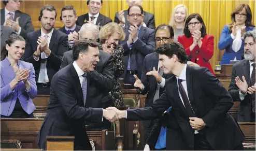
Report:
[[232,23],[223,27],[218,44],[220,50],[225,49],[222,64],[229,64],[231,60],[242,60],[244,34],[255,27],[251,19],[251,9],[247,4],[237,5],[231,13]]

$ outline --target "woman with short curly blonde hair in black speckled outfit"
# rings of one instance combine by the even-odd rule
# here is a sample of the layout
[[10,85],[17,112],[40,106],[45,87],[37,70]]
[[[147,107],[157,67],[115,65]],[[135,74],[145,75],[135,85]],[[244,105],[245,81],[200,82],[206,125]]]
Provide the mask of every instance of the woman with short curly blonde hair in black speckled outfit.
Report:
[[111,54],[114,58],[115,80],[114,87],[110,92],[115,106],[123,106],[122,91],[120,87],[119,77],[124,72],[124,56],[123,47],[119,45],[120,40],[124,40],[125,33],[123,28],[117,23],[108,23],[99,31],[99,39],[101,40],[104,52]]

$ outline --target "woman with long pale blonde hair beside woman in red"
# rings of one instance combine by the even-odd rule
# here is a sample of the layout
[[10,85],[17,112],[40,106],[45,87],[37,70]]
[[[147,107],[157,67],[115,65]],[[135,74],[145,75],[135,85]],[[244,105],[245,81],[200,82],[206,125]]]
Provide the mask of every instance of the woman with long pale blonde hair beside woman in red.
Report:
[[174,41],[177,42],[179,36],[184,35],[183,29],[185,26],[185,21],[188,18],[189,12],[186,5],[179,4],[175,6],[172,16],[170,17],[170,26],[174,30]]

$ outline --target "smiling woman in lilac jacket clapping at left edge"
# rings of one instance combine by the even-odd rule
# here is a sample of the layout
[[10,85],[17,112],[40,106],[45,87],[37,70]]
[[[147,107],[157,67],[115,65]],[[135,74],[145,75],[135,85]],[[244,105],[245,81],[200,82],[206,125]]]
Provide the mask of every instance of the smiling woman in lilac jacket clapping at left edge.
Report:
[[33,118],[35,70],[32,63],[20,61],[24,52],[25,40],[16,34],[7,38],[1,51],[1,118]]

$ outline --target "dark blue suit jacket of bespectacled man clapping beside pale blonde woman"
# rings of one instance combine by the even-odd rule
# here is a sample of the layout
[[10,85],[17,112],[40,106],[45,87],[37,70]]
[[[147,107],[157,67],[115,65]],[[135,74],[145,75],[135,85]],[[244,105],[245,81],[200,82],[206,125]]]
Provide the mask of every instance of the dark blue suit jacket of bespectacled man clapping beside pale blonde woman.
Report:
[[154,30],[148,27],[141,26],[139,30],[138,40],[133,44],[132,48],[129,49],[127,45],[127,40],[129,38],[129,26],[125,26],[123,28],[125,32],[125,39],[120,41],[121,46],[124,49],[124,73],[121,78],[125,77],[127,71],[127,64],[129,61],[130,51],[136,51],[136,65],[138,71],[138,78],[141,76],[143,60],[146,55],[154,52],[155,49],[155,41],[154,41]]

